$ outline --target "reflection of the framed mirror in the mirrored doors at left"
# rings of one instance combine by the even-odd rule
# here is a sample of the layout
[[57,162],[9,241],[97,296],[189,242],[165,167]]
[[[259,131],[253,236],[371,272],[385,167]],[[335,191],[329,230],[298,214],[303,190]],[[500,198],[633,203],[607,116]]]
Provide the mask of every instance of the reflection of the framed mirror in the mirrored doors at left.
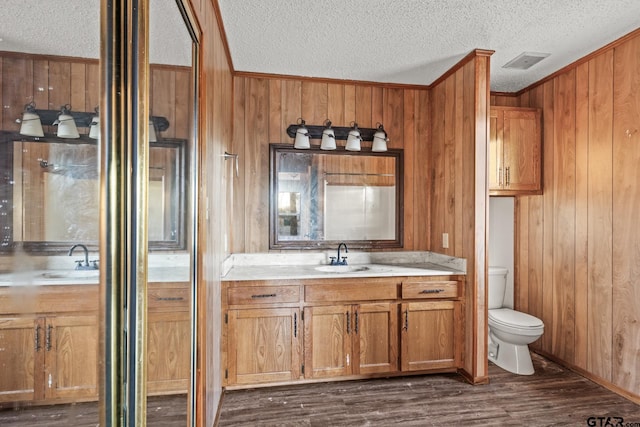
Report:
[[[149,246],[184,247],[185,140],[164,139],[149,149]],[[98,145],[89,140],[13,141],[11,180],[0,183],[13,199],[12,242],[32,251],[66,251],[98,241]],[[6,187],[6,188],[4,188]]]

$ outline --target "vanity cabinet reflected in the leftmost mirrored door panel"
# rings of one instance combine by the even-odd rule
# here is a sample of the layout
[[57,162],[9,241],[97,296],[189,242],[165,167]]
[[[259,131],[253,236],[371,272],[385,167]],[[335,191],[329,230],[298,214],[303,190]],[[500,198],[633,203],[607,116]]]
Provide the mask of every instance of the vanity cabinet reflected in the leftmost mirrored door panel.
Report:
[[0,404],[97,399],[97,287],[16,289],[0,289]]

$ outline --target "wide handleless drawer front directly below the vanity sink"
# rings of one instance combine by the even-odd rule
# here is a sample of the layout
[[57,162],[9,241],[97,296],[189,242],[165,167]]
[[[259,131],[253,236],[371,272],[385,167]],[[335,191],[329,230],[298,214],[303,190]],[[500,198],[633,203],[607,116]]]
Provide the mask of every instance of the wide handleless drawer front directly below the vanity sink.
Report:
[[307,302],[376,301],[398,297],[394,283],[313,284],[304,289]]

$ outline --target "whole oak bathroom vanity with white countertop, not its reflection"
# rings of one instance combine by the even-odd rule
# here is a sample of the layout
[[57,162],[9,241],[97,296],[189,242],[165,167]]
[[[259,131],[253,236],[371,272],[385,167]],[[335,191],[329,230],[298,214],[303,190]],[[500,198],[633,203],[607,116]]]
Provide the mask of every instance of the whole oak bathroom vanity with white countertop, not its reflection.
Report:
[[432,263],[232,269],[222,282],[223,385],[456,372],[464,292],[463,271]]

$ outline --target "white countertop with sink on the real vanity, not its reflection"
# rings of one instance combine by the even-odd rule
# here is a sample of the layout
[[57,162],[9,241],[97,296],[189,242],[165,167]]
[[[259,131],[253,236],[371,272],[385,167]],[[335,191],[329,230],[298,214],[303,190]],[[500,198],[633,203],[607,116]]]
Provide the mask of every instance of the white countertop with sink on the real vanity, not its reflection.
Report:
[[233,254],[223,281],[440,276],[466,274],[463,259],[433,252],[349,252],[347,266],[328,266],[328,253]]

